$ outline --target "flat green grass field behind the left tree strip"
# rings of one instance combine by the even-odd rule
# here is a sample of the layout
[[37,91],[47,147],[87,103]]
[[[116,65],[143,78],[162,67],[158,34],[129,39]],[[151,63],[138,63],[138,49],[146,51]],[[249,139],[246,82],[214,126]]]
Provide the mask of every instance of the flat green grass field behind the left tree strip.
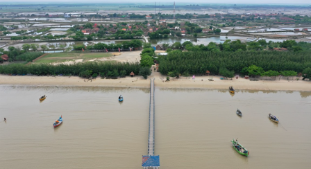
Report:
[[35,61],[35,63],[55,63],[55,62],[68,62],[72,60],[81,60],[87,62],[101,57],[110,57],[111,53],[50,53],[42,57],[40,60]]

